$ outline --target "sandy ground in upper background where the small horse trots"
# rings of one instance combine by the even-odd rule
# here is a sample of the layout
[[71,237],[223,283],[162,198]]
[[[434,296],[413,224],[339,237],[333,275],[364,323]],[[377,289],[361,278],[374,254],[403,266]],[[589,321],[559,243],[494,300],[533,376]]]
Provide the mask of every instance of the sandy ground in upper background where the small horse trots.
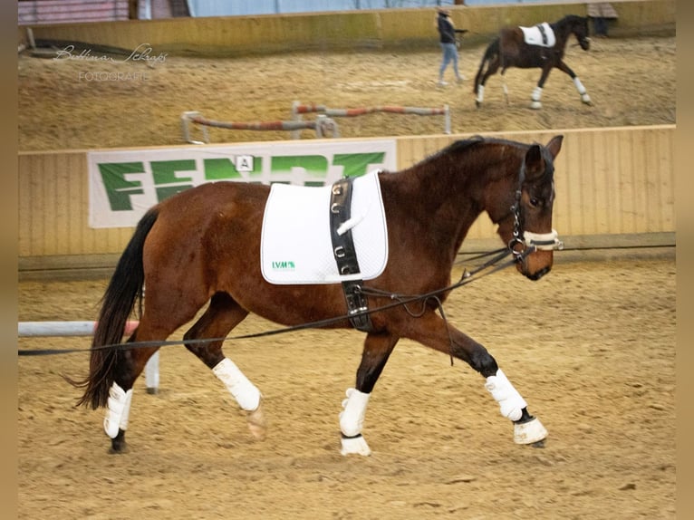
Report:
[[[565,61],[593,99],[584,105],[573,82],[554,70],[545,84],[544,108],[532,111],[538,69],[509,69],[504,100],[501,76],[487,82],[485,104],[472,93],[483,46],[460,51],[467,81],[437,87],[436,43],[410,53],[296,53],[200,58],[168,56],[151,67],[110,56],[114,62],[19,58],[19,149],[82,149],[182,144],[184,111],[210,120],[290,120],[293,101],[329,108],[380,105],[442,107],[456,132],[574,129],[675,123],[674,35],[593,39],[583,52],[572,40]],[[74,52],[77,54],[77,51]],[[158,55],[153,49],[152,55]],[[92,52],[92,56],[102,54]],[[314,119],[307,114],[304,119]],[[441,116],[371,114],[336,119],[341,137],[442,133]],[[202,137],[193,129],[193,137]],[[304,130],[302,139],[313,139]],[[286,131],[209,129],[211,142],[286,140]]]

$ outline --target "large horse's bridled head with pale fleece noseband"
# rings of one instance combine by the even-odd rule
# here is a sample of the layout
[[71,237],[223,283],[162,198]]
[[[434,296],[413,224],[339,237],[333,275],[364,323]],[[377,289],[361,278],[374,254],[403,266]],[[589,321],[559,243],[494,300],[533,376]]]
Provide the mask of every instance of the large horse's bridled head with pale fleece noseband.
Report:
[[518,260],[520,273],[539,280],[552,269],[554,249],[561,246],[552,228],[554,158],[562,148],[558,135],[545,147],[530,146],[518,174],[512,215],[499,224],[498,233]]

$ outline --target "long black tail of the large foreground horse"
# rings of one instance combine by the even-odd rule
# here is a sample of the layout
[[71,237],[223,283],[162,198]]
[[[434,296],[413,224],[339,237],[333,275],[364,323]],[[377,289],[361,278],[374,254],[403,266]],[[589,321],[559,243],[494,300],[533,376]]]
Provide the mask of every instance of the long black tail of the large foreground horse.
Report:
[[138,301],[140,305],[142,303],[142,289],[145,281],[142,250],[145,238],[157,221],[157,217],[158,211],[150,209],[140,219],[135,233],[130,238],[111,276],[111,282],[102,298],[99,322],[92,339],[89,376],[79,381],[65,378],[72,386],[85,389],[84,395],[77,401],[76,406],[84,405],[97,409],[108,405],[109,390],[115,379],[117,361],[124,352],[117,347],[109,348],[107,345],[116,345],[122,341],[125,325],[135,303]]

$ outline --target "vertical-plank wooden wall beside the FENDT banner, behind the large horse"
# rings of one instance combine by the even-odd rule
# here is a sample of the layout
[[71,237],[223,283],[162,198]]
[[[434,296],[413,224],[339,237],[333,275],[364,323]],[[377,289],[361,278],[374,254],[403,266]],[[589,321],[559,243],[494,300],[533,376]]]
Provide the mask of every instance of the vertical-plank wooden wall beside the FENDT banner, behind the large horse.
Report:
[[[558,133],[554,227],[567,246],[674,245],[675,125],[485,135],[546,143]],[[398,169],[469,136],[395,138]],[[87,152],[20,152],[18,159],[20,272],[115,265],[132,228],[88,225]],[[491,245],[500,243],[483,215],[464,248]]]

